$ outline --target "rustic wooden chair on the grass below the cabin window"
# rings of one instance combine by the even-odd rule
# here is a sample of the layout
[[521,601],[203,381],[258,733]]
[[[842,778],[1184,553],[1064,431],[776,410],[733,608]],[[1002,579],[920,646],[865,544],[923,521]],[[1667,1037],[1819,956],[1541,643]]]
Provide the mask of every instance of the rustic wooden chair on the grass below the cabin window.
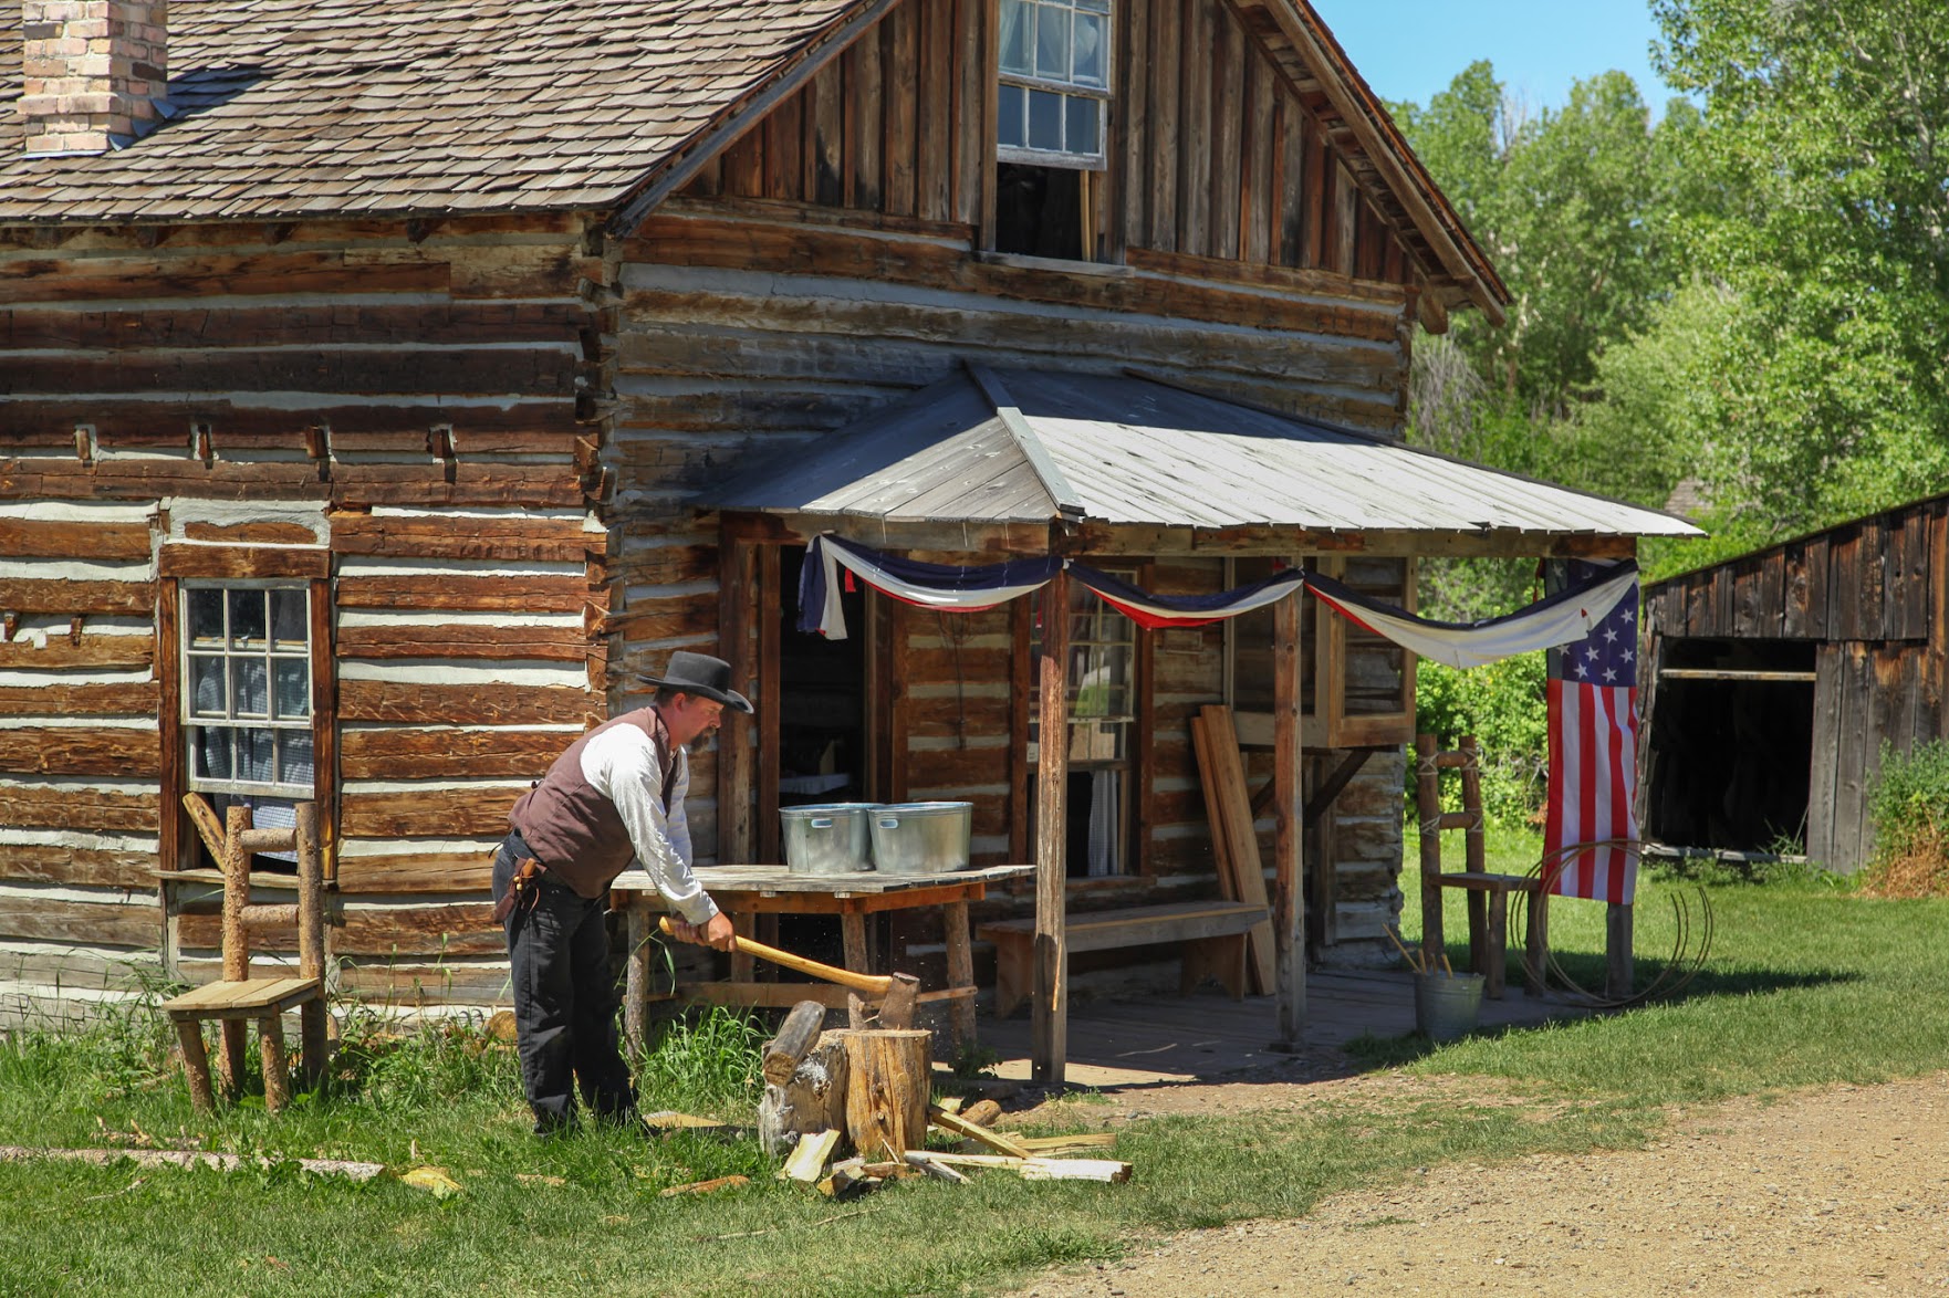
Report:
[[[199,1109],[214,1107],[210,1060],[203,1049],[203,1019],[222,1023],[222,1089],[236,1097],[244,1078],[244,1033],[257,1019],[263,1052],[263,1107],[277,1113],[290,1099],[290,1064],[285,1058],[285,1012],[300,1012],[304,1082],[316,1086],[325,1068],[325,885],[318,859],[318,807],[298,803],[296,826],[251,828],[249,807],[230,807],[226,824],[195,793],[183,797],[197,832],[224,871],[224,976],[164,1002],[183,1047],[189,1097]],[[249,900],[249,858],[255,852],[298,854],[298,904],[263,906]],[[296,928],[298,976],[251,978],[249,930]]]

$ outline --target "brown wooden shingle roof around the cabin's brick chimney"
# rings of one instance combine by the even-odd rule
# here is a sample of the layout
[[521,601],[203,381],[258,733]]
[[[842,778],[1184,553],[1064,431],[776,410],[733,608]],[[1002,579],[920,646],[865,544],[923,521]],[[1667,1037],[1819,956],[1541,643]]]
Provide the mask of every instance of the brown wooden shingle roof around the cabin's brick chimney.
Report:
[[173,0],[173,121],[23,158],[0,0],[0,220],[604,209],[860,0]]

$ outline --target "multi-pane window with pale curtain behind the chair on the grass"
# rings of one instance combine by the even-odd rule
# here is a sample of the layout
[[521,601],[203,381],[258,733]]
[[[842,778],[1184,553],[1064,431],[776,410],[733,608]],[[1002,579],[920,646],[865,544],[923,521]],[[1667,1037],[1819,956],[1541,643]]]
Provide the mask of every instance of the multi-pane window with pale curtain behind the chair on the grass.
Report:
[[181,606],[189,787],[312,797],[310,591],[185,581]]

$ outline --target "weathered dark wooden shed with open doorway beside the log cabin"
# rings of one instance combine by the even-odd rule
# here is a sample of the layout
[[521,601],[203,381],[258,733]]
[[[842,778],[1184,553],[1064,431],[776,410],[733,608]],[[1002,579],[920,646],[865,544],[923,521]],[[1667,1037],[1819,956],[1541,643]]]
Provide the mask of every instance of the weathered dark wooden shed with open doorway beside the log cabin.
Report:
[[1873,854],[1883,744],[1949,733],[1949,497],[1645,587],[1645,836]]

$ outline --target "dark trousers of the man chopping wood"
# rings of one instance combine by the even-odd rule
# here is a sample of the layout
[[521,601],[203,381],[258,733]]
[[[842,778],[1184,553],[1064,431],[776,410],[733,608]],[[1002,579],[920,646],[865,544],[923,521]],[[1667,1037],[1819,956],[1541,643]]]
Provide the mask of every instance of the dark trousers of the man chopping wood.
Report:
[[[507,893],[515,863],[532,856],[509,834],[493,858],[495,900]],[[622,996],[608,967],[608,898],[583,898],[542,875],[532,906],[507,916],[507,955],[515,984],[515,1035],[520,1084],[534,1109],[534,1128],[575,1119],[575,1082],[583,1103],[602,1117],[635,1109],[635,1088],[616,1033]]]

